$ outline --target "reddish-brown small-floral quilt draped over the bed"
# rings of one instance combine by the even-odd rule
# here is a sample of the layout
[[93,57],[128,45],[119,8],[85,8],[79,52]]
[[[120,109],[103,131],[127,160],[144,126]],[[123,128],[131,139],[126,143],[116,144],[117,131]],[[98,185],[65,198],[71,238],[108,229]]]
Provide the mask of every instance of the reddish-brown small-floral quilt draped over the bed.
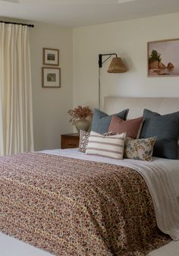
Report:
[[143,256],[170,241],[141,175],[45,153],[0,158],[0,230],[57,256]]

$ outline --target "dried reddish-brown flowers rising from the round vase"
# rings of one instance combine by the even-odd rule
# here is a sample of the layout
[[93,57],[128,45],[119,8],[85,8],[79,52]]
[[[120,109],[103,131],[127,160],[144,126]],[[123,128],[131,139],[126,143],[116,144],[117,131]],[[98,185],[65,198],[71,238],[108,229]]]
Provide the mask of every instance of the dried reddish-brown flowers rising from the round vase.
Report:
[[68,110],[68,114],[72,116],[70,122],[76,122],[78,119],[86,119],[86,117],[93,116],[92,109],[89,106],[77,106],[77,108]]

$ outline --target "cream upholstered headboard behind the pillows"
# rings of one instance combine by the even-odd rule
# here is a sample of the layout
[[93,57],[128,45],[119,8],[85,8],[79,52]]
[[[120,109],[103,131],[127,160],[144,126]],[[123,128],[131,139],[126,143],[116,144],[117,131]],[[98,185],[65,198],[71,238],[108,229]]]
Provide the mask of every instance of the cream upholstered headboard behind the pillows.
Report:
[[130,109],[127,119],[135,119],[142,116],[143,109],[149,109],[165,115],[179,111],[179,98],[105,97],[105,112],[114,114],[123,109]]

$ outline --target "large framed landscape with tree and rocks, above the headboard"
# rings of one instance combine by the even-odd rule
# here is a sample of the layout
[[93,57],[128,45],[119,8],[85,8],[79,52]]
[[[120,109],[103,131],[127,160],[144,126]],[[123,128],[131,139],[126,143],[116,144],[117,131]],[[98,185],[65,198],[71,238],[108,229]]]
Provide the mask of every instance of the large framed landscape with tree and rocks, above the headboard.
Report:
[[179,39],[147,43],[148,77],[179,75]]

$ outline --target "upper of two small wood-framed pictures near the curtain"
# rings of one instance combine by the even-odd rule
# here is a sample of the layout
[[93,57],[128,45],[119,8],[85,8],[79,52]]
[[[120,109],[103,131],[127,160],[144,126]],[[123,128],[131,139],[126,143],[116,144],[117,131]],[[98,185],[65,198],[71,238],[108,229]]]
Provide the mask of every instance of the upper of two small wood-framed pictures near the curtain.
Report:
[[43,48],[43,65],[59,65],[59,50]]

